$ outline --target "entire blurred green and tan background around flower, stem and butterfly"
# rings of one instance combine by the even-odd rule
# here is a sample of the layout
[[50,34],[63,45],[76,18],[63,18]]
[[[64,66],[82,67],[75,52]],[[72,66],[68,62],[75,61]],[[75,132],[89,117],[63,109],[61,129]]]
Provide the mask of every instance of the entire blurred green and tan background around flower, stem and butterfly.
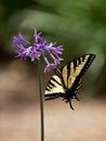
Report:
[[[35,28],[42,31],[42,37],[49,42],[56,42],[57,46],[62,44],[64,47],[62,56],[64,62],[61,65],[84,53],[96,54],[96,59],[85,74],[79,94],[80,103],[76,105],[79,114],[72,113],[75,119],[72,123],[78,121],[78,128],[72,125],[75,130],[71,126],[71,129],[68,130],[72,130],[71,140],[74,141],[87,141],[90,137],[93,141],[105,141],[106,134],[101,131],[106,127],[106,1],[0,0],[0,137],[2,141],[16,141],[16,139],[38,141],[39,130],[36,125],[36,123],[39,123],[37,62],[15,59],[15,49],[12,47],[13,36],[17,35],[18,31],[22,31],[24,37],[32,42]],[[42,85],[44,90],[53,72],[44,74],[43,69],[42,61]],[[92,104],[92,102],[94,103]],[[57,105],[56,110],[54,110],[54,104]],[[65,108],[63,113],[59,112],[61,106],[63,110]],[[51,114],[47,110],[49,107],[52,111]],[[67,121],[71,123],[71,114],[70,116],[67,115],[67,113],[70,113],[68,108],[68,105],[61,100],[45,103],[45,116],[54,121],[53,125],[51,125],[51,121],[48,125],[49,123],[45,120],[49,126],[47,127],[47,134],[49,134],[47,140],[62,141],[63,139],[68,141],[69,136],[67,133],[64,134],[64,138],[59,137],[63,137],[63,130],[62,134],[56,134],[56,130],[59,130],[59,128],[55,126],[57,125],[55,121],[58,121],[57,118],[59,119],[59,114],[62,114],[62,117],[64,115],[64,121],[69,117]],[[67,112],[66,115],[65,111]],[[57,113],[57,118],[54,113]],[[96,124],[93,125],[95,128],[92,130],[95,132],[91,130],[92,121],[90,127],[89,124],[83,128],[81,128],[82,125],[79,125],[81,119],[88,123],[93,113],[95,113],[92,117],[93,124],[96,117],[98,117],[97,123],[102,121],[97,126],[98,128],[96,128]],[[80,118],[78,118],[79,116]],[[64,124],[64,121],[62,123]],[[100,136],[96,130],[101,132]],[[75,132],[79,131],[84,131],[84,133],[77,137]],[[53,133],[55,138],[50,136]],[[75,137],[72,137],[72,133]]]

